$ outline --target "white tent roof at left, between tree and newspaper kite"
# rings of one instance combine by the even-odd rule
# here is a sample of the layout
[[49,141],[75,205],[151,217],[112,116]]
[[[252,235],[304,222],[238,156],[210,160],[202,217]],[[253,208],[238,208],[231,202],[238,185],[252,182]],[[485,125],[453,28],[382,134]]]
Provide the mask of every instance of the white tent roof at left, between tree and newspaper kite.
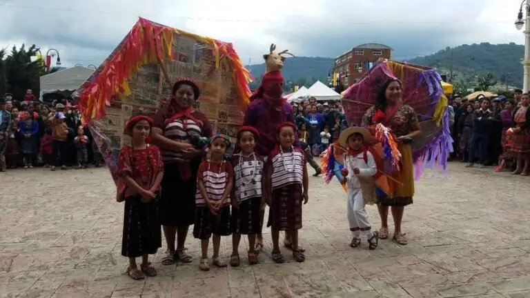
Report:
[[40,98],[46,93],[75,91],[92,75],[94,70],[83,66],[74,66],[43,75],[41,79]]

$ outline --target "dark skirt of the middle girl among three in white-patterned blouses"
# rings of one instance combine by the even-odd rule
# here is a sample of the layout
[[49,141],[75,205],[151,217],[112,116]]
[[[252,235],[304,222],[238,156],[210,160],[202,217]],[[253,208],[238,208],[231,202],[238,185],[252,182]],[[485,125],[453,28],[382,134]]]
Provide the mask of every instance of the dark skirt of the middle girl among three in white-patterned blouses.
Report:
[[262,197],[246,199],[232,208],[232,232],[236,234],[258,234],[262,232],[261,205]]

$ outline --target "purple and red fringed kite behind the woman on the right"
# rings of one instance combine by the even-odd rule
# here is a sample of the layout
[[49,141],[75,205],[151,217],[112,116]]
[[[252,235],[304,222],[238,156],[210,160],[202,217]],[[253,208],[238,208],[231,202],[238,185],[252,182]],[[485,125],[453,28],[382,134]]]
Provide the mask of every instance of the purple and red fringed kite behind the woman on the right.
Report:
[[422,136],[413,146],[414,176],[419,179],[426,167],[438,166],[446,175],[447,157],[453,152],[447,100],[442,78],[431,68],[380,59],[357,83],[342,92],[342,106],[349,126],[358,126],[364,112],[375,103],[377,91],[388,79],[400,79],[403,102],[418,114]]

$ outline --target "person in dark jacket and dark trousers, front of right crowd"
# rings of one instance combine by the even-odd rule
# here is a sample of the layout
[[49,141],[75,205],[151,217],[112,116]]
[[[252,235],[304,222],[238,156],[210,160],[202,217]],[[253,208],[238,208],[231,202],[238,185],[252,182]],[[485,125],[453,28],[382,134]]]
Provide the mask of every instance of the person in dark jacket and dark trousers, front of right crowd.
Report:
[[469,148],[469,163],[467,167],[472,167],[475,163],[475,150],[478,149],[478,159],[480,168],[484,168],[488,161],[488,142],[493,113],[489,110],[489,99],[482,98],[480,109],[473,112],[473,132],[471,135],[471,146]]

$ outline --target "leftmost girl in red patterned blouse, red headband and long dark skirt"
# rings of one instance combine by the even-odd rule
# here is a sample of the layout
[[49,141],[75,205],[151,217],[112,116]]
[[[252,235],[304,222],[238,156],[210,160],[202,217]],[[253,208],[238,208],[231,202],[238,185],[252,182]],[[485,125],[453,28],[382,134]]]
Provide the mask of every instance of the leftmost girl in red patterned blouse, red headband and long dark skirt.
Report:
[[[125,201],[121,255],[129,258],[127,273],[133,279],[144,279],[144,274],[157,275],[148,257],[162,246],[157,199],[164,164],[160,150],[146,142],[152,126],[149,117],[132,117],[125,128],[132,137],[131,145],[121,148],[118,159],[116,200]],[[140,268],[137,257],[141,257]]]

